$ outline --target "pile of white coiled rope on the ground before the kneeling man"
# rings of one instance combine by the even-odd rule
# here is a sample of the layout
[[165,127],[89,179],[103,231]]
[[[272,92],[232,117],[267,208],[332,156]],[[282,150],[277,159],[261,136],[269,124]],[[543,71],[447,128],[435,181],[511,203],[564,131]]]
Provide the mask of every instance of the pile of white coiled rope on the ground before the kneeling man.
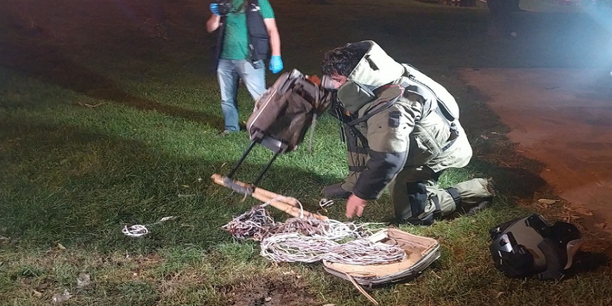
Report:
[[[356,225],[316,218],[289,218],[285,223],[276,223],[265,210],[273,200],[234,218],[222,227],[223,230],[239,239],[261,241],[261,256],[276,262],[325,259],[344,264],[382,264],[405,259],[405,251],[397,245],[367,239],[372,234],[369,226],[378,223]],[[337,242],[343,239],[353,240]]]

